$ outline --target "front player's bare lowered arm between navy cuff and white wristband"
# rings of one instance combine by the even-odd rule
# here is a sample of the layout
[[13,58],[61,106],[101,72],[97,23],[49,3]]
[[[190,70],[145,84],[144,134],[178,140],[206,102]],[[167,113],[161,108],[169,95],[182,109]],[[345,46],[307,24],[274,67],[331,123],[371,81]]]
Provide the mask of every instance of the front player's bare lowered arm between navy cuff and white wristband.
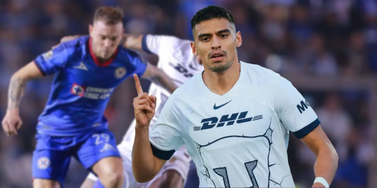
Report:
[[[302,138],[301,141],[316,155],[314,174],[316,177],[323,177],[330,185],[338,168],[338,154],[333,144],[320,126]],[[323,187],[323,185],[315,183],[313,187]]]

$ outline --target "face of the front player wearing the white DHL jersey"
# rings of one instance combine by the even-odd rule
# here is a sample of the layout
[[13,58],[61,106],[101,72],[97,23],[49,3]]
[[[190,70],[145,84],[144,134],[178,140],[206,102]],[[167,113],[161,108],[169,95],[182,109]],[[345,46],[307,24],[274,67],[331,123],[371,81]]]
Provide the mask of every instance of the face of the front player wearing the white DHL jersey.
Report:
[[224,18],[202,21],[195,26],[194,55],[199,55],[202,64],[213,72],[220,73],[233,64],[236,47],[241,46],[241,33]]

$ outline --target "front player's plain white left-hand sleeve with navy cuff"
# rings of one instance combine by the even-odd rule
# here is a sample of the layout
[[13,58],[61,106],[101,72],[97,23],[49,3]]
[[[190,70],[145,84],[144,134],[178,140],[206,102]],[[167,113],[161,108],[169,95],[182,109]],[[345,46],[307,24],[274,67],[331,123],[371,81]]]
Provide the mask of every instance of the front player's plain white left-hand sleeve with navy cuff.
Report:
[[176,103],[173,97],[167,100],[149,133],[153,155],[164,160],[169,160],[175,150],[184,145],[181,134],[183,116]]

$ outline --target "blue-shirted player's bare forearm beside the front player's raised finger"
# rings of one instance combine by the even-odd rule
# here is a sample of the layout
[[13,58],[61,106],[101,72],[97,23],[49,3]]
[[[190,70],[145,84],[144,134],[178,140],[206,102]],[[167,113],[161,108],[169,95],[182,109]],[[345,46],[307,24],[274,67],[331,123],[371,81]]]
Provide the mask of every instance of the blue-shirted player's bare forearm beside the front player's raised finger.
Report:
[[164,71],[160,70],[154,65],[148,63],[147,70],[143,74],[143,77],[151,80],[159,86],[167,89],[170,93],[173,93],[177,89],[177,85]]

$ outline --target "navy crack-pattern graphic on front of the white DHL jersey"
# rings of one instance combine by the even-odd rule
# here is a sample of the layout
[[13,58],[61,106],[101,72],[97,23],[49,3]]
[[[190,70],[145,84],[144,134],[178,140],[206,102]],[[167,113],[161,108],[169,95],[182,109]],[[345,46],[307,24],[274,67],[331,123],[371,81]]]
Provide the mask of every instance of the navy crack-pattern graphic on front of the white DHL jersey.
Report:
[[[204,159],[203,159],[203,156],[202,156],[202,153],[201,153],[201,148],[202,147],[206,147],[206,146],[209,146],[221,139],[225,139],[225,138],[231,138],[231,137],[238,137],[238,138],[261,138],[261,137],[264,137],[267,139],[268,143],[269,143],[269,148],[268,148],[268,155],[267,155],[267,162],[268,162],[268,187],[270,187],[270,182],[273,182],[275,183],[274,185],[280,185],[281,186],[281,183],[283,182],[284,178],[285,177],[288,177],[288,176],[291,176],[291,174],[287,175],[287,176],[284,176],[282,178],[282,180],[280,181],[280,183],[278,183],[277,181],[275,180],[272,180],[270,177],[271,177],[271,170],[270,170],[270,167],[273,167],[274,165],[279,165],[279,164],[276,164],[276,162],[274,164],[270,164],[270,153],[271,153],[271,145],[273,144],[273,141],[272,141],[272,134],[273,134],[273,129],[271,129],[271,122],[272,122],[272,117],[271,117],[271,120],[270,120],[270,124],[268,126],[268,129],[265,131],[265,133],[263,135],[256,135],[256,136],[245,136],[242,134],[242,136],[240,135],[232,135],[232,136],[225,136],[225,137],[222,137],[222,138],[219,138],[219,139],[216,139],[215,141],[212,141],[212,142],[209,142],[208,144],[205,144],[205,145],[200,145],[198,143],[196,143],[194,141],[194,143],[196,144],[196,149],[198,149],[198,153],[199,155],[201,156],[202,158],[202,164],[205,168],[205,173],[203,173],[201,171],[201,174],[203,176],[206,177],[206,179],[210,179],[213,183],[213,185],[216,187],[214,181],[211,179],[210,177],[210,174],[208,172],[208,168],[204,165]],[[252,188],[258,188],[258,183],[257,183],[257,180],[255,178],[255,175],[253,173],[253,170],[256,168],[257,166],[257,162],[258,160],[254,160],[254,161],[250,161],[250,162],[245,162],[245,168],[248,172],[248,175],[250,177],[250,180],[251,182],[253,183],[253,186],[251,186]],[[227,173],[227,170],[226,170],[226,167],[220,167],[220,168],[214,168],[212,169],[216,174],[218,174],[219,176],[223,177],[223,180],[224,180],[224,186],[225,188],[230,188],[230,181],[228,179],[228,174]]]

